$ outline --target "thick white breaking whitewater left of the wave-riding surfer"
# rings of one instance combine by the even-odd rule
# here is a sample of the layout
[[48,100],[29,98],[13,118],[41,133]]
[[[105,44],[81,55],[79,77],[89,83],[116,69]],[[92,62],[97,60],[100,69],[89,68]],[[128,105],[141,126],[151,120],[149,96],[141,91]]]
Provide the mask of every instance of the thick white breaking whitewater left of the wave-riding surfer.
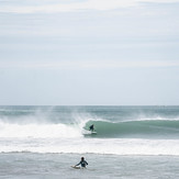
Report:
[[66,124],[13,124],[0,123],[0,137],[80,137],[81,130],[77,125]]

